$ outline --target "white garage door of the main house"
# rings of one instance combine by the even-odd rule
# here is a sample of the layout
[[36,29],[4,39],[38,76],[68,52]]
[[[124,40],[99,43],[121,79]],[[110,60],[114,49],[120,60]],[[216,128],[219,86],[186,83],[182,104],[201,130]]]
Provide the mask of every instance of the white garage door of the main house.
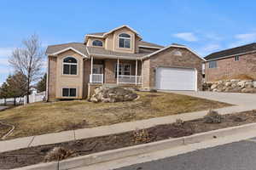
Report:
[[161,90],[196,90],[195,69],[159,67],[155,80]]

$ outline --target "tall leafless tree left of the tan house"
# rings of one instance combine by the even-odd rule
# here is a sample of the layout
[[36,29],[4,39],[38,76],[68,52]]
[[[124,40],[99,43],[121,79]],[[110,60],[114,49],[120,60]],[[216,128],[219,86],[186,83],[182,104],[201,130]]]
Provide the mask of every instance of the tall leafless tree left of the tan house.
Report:
[[41,76],[44,65],[44,51],[37,35],[32,35],[22,42],[22,48],[16,48],[9,57],[9,64],[15,72],[26,76],[26,102],[29,103],[31,84]]

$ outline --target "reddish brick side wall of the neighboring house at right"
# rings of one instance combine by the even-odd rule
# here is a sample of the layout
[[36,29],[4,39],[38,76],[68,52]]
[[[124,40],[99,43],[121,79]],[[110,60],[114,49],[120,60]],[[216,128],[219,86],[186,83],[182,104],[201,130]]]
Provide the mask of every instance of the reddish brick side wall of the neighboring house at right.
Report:
[[209,63],[207,62],[207,82],[232,79],[241,75],[256,79],[256,53],[240,55],[239,58],[239,61],[236,61],[235,57],[218,59],[217,68],[209,68]]

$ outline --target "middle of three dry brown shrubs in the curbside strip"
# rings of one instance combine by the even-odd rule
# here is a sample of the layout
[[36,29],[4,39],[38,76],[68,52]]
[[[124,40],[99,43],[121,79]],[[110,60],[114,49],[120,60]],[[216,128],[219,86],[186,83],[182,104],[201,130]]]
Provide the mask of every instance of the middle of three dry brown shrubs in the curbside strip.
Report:
[[152,137],[149,135],[148,130],[143,129],[143,130],[135,130],[133,132],[133,142],[135,144],[140,144],[140,143],[148,143],[152,141]]

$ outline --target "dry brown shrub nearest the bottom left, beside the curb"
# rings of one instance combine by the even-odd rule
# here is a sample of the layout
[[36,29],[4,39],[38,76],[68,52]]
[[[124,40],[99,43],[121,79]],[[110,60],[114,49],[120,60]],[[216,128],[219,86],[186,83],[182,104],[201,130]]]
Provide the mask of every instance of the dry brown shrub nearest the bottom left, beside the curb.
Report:
[[61,161],[72,155],[73,151],[71,150],[66,150],[62,147],[55,147],[46,154],[44,161]]

